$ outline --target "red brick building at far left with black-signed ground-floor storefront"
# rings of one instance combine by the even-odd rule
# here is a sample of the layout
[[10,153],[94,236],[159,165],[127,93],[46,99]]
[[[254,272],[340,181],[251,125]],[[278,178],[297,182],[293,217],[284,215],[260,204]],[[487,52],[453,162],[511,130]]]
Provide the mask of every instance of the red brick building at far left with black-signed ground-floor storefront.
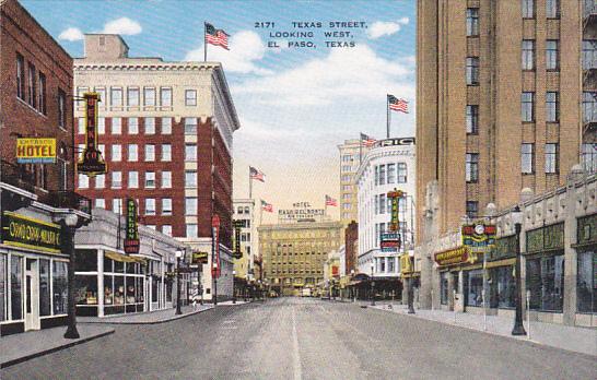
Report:
[[[17,1],[0,1],[0,335],[67,321],[66,219],[91,218],[73,192],[71,93],[72,58]],[[55,159],[17,164],[22,138],[54,139]]]

